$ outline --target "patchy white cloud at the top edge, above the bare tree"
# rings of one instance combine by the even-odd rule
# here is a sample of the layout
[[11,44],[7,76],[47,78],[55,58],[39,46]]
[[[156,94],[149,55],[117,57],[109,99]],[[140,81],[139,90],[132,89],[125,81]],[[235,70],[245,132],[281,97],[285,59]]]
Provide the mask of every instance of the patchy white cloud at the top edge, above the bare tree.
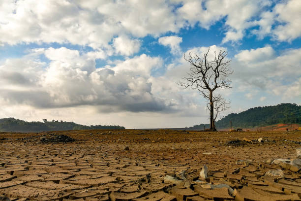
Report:
[[191,26],[199,23],[199,26],[209,29],[225,17],[227,32],[223,43],[242,39],[245,30],[254,26],[252,17],[257,16],[265,6],[271,5],[270,0],[184,0],[182,3],[178,13]]

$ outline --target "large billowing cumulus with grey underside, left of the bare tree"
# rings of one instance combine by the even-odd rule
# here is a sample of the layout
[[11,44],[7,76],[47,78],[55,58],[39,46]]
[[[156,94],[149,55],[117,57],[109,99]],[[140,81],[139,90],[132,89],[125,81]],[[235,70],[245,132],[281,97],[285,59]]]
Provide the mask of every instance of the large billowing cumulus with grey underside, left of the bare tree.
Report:
[[105,112],[172,110],[164,98],[151,93],[150,72],[162,66],[158,57],[143,54],[112,67],[95,68],[95,59],[77,50],[38,51],[49,64],[25,57],[0,66],[5,77],[0,81],[3,99],[38,108],[98,105]]

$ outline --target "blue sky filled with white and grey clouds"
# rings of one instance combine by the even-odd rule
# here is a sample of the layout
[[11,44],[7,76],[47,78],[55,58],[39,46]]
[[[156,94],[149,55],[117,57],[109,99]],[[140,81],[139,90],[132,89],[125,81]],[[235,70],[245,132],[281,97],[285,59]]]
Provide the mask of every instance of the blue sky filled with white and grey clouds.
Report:
[[301,104],[301,0],[0,0],[0,118],[209,123],[184,53],[227,51],[230,108]]

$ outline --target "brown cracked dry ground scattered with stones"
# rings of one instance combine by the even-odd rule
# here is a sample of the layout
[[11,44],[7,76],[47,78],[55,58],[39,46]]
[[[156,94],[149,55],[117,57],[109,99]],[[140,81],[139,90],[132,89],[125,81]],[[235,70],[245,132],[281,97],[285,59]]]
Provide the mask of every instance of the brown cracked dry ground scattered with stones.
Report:
[[300,131],[0,133],[0,147],[10,200],[301,200],[301,171],[271,164],[297,158]]

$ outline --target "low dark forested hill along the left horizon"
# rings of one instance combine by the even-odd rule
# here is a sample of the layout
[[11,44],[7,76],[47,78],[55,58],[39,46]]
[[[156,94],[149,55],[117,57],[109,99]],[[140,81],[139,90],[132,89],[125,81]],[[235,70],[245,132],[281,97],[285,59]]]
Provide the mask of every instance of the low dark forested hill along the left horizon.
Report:
[[74,122],[47,121],[26,122],[14,118],[0,119],[1,132],[42,132],[42,131],[64,131],[64,130],[89,130],[89,129],[125,129],[122,126],[84,126]]

